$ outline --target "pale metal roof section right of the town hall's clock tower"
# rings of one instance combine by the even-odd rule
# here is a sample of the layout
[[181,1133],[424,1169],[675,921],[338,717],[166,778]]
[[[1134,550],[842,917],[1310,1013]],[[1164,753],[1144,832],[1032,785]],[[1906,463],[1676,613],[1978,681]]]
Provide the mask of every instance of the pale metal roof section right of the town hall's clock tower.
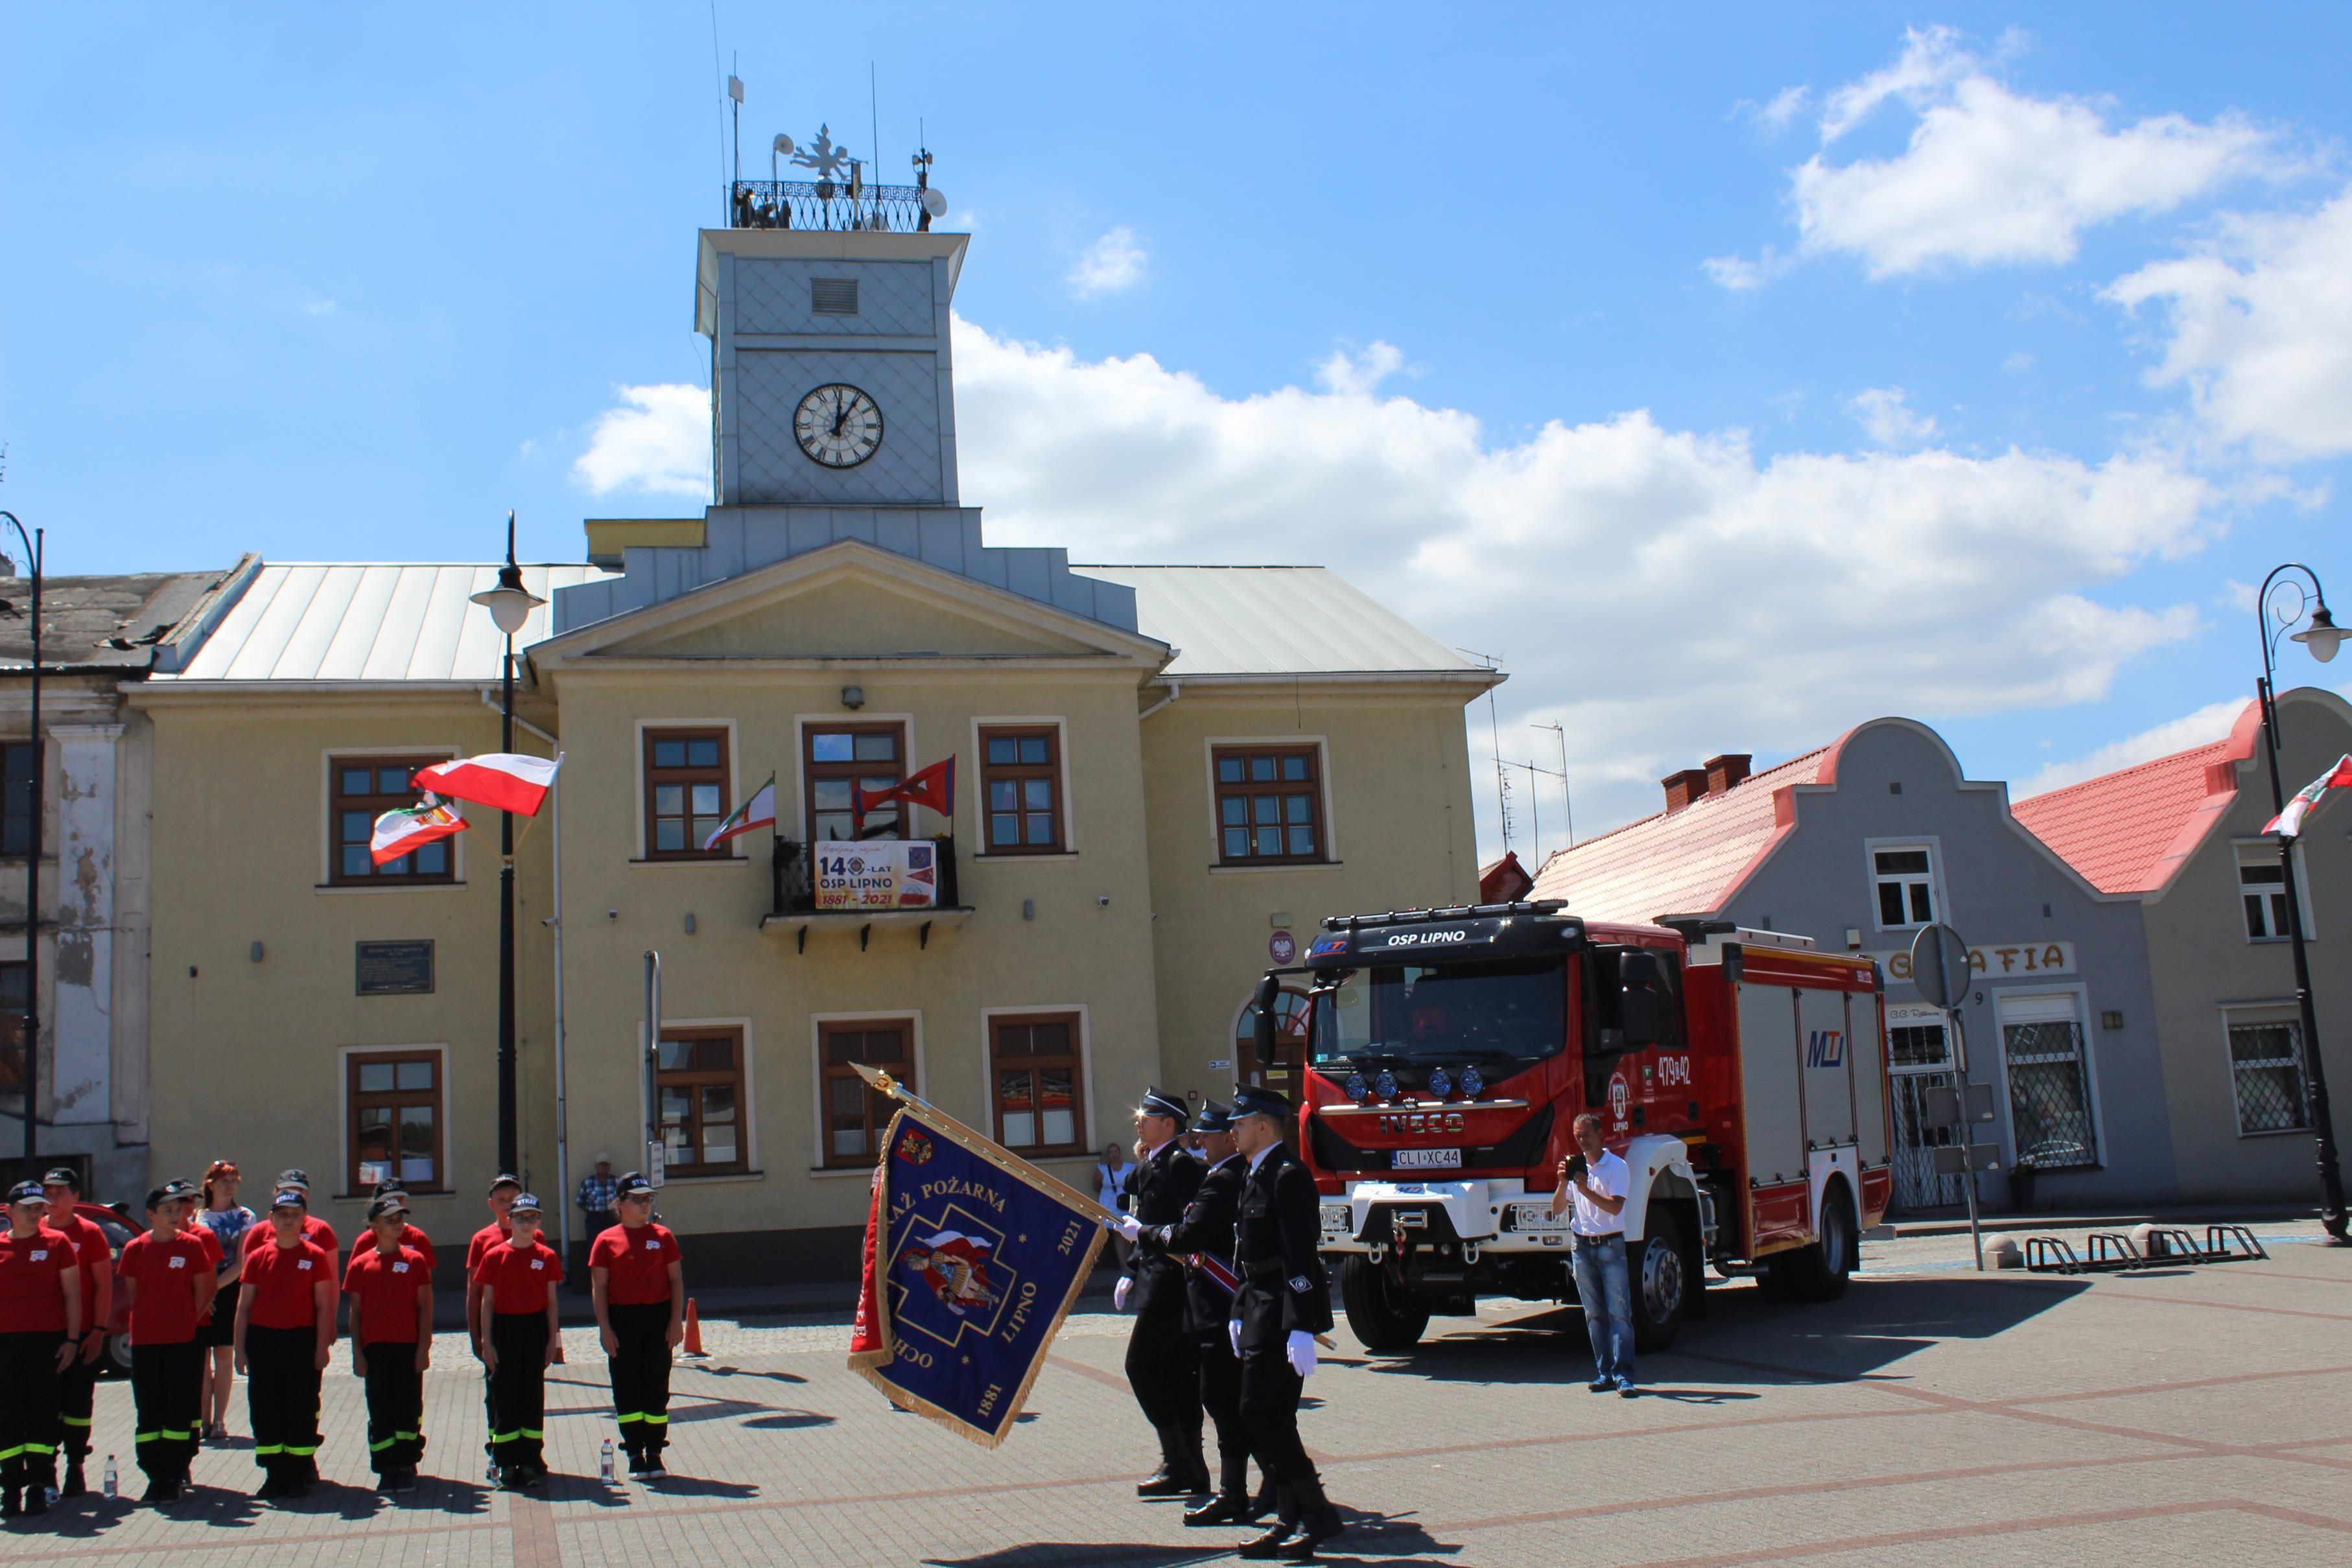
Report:
[[1145,637],[1176,649],[1171,679],[1214,675],[1477,675],[1463,658],[1329,567],[1091,567],[1136,590]]

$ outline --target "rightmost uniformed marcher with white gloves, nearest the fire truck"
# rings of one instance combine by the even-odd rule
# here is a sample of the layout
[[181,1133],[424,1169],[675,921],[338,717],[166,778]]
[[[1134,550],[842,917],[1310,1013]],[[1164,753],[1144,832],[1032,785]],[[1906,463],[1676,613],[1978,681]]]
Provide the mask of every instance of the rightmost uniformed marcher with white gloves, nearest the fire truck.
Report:
[[1242,1429],[1282,1509],[1240,1556],[1296,1563],[1343,1528],[1298,1441],[1298,1396],[1315,1375],[1315,1335],[1331,1328],[1331,1286],[1315,1251],[1319,1201],[1315,1178],[1282,1147],[1282,1133],[1298,1119],[1289,1100],[1272,1088],[1242,1086],[1232,1091],[1232,1119],[1235,1143],[1249,1161],[1232,1237],[1232,1269],[1242,1281],[1230,1326],[1242,1359]]

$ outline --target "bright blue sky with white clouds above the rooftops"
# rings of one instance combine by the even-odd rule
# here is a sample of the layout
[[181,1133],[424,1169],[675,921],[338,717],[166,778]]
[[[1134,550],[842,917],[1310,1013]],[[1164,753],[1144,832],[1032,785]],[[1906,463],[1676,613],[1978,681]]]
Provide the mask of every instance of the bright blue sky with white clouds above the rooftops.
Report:
[[[1338,567],[1503,656],[1583,832],[1879,712],[2020,788],[2190,743],[2244,585],[2352,581],[2340,7],[715,24],[746,167],[866,150],[868,63],[884,176],[922,118],[995,538]],[[52,569],[696,508],[708,5],[9,7],[0,87]]]

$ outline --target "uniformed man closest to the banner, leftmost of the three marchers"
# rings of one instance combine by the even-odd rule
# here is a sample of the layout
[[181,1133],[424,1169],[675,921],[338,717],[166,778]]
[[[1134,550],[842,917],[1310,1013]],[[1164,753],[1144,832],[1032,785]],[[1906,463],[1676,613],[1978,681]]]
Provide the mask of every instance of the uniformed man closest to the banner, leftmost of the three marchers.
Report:
[[[1136,1105],[1136,1140],[1143,1157],[1129,1178],[1127,1213],[1138,1225],[1176,1225],[1200,1192],[1204,1171],[1183,1143],[1190,1119],[1185,1103],[1157,1088]],[[1136,1486],[1138,1497],[1197,1497],[1209,1490],[1209,1465],[1200,1453],[1200,1373],[1192,1335],[1185,1331],[1185,1272],[1162,1253],[1136,1251],[1127,1279],[1112,1298],[1136,1314],[1127,1338],[1127,1385],[1143,1406],[1143,1420],[1160,1434],[1160,1469]]]

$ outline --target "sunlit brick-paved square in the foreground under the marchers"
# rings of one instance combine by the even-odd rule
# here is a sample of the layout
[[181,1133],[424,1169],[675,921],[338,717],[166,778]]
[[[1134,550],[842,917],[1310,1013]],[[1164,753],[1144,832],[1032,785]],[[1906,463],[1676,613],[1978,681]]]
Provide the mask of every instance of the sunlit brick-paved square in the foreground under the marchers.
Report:
[[[2352,1561],[2352,1253],[2272,1227],[2267,1262],[2131,1276],[1976,1276],[1950,1239],[1872,1244],[1828,1307],[1745,1286],[1651,1356],[1637,1401],[1585,1394],[1581,1319],[1489,1305],[1409,1356],[1341,1331],[1305,1436],[1352,1530],[1331,1561],[2107,1566]],[[367,1490],[360,1387],[325,1389],[329,1486],[249,1497],[240,1441],[169,1512],[85,1500],[0,1554],[64,1568],[684,1568],[731,1561],[1025,1568],[1228,1561],[1240,1530],[1136,1502],[1148,1434],[1120,1375],[1127,1321],[1077,1314],[1030,1410],[985,1453],[891,1410],[842,1366],[840,1321],[710,1321],[682,1366],[677,1476],[597,1481],[602,1356],[567,1331],[548,1385],[546,1497],[482,1483],[473,1359],[442,1335],[430,1479]],[[230,1429],[242,1432],[242,1408]],[[125,1490],[129,1389],[99,1392]]]

